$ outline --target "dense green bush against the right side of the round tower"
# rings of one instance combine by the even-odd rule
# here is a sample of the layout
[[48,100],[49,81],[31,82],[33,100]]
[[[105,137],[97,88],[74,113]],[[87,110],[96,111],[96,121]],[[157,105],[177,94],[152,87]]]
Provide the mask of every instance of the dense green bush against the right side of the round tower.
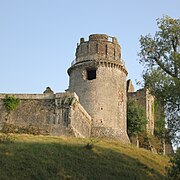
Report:
[[127,104],[127,126],[128,134],[138,135],[146,129],[145,109],[137,101],[130,100]]

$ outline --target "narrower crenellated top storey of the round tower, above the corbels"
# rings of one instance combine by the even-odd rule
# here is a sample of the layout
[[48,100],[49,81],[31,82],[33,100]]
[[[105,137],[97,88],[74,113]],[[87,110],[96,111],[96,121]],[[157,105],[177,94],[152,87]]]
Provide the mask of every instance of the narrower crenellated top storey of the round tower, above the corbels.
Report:
[[92,34],[89,40],[80,38],[80,43],[76,48],[75,63],[91,61],[115,61],[122,64],[121,48],[116,37],[106,34]]

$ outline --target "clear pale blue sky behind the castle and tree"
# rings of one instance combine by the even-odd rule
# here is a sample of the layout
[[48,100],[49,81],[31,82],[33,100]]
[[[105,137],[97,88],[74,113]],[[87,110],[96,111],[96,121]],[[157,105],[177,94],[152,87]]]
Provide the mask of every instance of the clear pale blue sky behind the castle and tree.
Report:
[[0,0],[0,93],[68,88],[67,69],[81,37],[118,38],[127,79],[141,81],[139,38],[156,19],[180,16],[180,0]]

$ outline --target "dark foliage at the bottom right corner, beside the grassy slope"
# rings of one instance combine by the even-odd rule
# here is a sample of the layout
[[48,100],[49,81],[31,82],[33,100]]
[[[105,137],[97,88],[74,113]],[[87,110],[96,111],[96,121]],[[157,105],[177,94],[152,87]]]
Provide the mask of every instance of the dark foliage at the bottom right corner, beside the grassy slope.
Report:
[[167,168],[168,178],[178,180],[180,179],[180,148],[170,159],[171,166]]

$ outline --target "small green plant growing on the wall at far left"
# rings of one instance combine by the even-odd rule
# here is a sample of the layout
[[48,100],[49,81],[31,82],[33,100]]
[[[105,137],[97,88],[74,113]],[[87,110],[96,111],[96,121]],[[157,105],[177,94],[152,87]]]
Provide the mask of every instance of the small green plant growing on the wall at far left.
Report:
[[8,113],[14,111],[20,103],[20,99],[14,96],[6,96],[4,99],[4,106]]

